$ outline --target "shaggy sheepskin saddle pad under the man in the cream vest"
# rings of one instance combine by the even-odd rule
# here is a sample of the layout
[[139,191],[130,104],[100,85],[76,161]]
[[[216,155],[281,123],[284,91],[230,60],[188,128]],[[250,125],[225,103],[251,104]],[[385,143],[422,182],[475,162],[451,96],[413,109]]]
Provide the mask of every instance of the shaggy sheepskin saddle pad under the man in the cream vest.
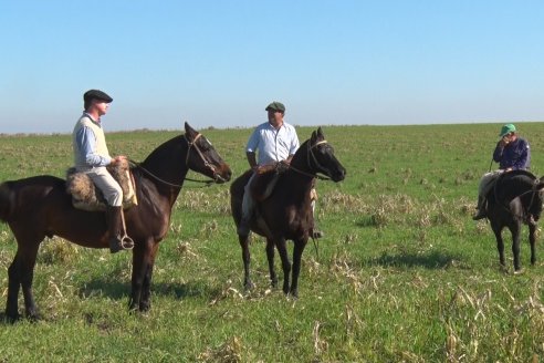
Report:
[[[123,209],[137,205],[134,178],[128,162],[125,160],[106,168],[123,189]],[[94,185],[88,175],[77,173],[74,167],[66,172],[66,191],[72,195],[72,204],[77,209],[106,210],[106,199],[101,189]]]

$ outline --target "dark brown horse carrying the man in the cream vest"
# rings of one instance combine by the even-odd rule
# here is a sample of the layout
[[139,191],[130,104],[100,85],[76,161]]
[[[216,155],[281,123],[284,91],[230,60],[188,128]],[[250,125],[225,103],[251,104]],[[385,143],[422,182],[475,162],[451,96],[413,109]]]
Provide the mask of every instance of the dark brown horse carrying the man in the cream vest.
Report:
[[[217,183],[230,179],[231,170],[208,139],[187,123],[179,135],[157,147],[134,168],[138,205],[126,210],[126,228],[134,239],[129,308],[150,308],[150,284],[158,243],[168,231],[172,205],[189,169]],[[0,185],[0,219],[8,222],[18,243],[9,267],[6,315],[19,318],[18,295],[22,287],[25,314],[38,319],[32,279],[38,249],[45,237],[59,236],[90,248],[108,248],[105,214],[72,206],[65,180],[35,176]]]

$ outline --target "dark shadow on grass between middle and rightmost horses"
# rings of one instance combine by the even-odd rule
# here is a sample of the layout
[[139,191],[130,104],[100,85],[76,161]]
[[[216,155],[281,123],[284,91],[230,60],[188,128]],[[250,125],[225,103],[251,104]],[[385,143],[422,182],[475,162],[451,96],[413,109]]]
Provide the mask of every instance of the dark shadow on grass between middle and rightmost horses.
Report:
[[460,257],[438,251],[429,253],[384,253],[380,257],[367,260],[367,265],[399,268],[422,267],[426,269],[468,268]]

